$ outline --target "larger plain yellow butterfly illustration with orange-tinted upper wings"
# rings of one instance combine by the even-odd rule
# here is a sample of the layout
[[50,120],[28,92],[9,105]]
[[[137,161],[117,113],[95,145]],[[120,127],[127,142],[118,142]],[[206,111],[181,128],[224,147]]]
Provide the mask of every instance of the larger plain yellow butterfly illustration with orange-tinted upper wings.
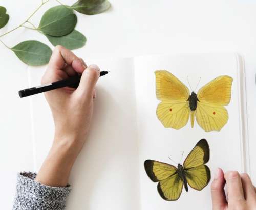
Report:
[[164,127],[180,129],[189,119],[191,127],[196,120],[206,132],[220,131],[227,123],[228,113],[224,106],[231,97],[233,79],[230,76],[218,76],[207,83],[196,94],[189,95],[188,88],[172,73],[157,70],[156,97],[161,102],[157,107],[157,117]]

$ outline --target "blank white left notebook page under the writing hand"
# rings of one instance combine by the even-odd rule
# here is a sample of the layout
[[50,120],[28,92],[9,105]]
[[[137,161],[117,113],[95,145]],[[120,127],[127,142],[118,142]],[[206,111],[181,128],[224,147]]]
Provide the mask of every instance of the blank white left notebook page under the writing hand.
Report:
[[[86,59],[103,71],[99,78],[90,135],[72,169],[68,209],[137,209],[139,206],[138,144],[133,59]],[[31,69],[32,86],[45,68]],[[43,94],[31,97],[36,170],[52,142],[52,116]],[[70,122],[72,123],[72,122]]]

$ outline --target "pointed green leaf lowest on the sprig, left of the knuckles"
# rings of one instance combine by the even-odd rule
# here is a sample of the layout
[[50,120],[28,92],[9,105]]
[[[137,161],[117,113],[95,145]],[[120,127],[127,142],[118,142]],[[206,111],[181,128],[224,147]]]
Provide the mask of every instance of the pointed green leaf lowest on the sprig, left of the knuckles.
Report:
[[16,56],[30,66],[41,66],[49,63],[52,50],[44,43],[30,40],[20,42],[10,48]]

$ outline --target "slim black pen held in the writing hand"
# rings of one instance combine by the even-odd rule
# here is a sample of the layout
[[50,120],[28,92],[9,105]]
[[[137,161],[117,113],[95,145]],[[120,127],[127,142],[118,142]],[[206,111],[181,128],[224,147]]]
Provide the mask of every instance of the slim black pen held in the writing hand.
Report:
[[[100,76],[104,76],[107,73],[109,73],[109,71],[101,71]],[[30,96],[30,95],[35,95],[37,93],[43,93],[43,92],[54,90],[54,89],[57,89],[57,88],[63,88],[63,87],[66,87],[66,86],[77,88],[79,83],[80,83],[80,79],[81,79],[81,75],[69,77],[65,80],[60,80],[60,81],[57,81],[57,82],[48,83],[48,84],[36,86],[36,87],[33,87],[33,88],[20,90],[20,91],[18,91],[18,95],[19,95],[20,98],[23,98],[23,97],[27,97],[27,96]]]

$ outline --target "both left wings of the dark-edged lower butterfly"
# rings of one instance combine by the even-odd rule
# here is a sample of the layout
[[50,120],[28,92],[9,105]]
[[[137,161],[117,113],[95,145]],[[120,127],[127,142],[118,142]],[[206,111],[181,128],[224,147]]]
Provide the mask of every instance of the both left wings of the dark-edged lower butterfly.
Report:
[[157,189],[164,200],[177,200],[180,197],[182,181],[175,166],[159,161],[146,160],[144,167],[152,181],[159,181]]

